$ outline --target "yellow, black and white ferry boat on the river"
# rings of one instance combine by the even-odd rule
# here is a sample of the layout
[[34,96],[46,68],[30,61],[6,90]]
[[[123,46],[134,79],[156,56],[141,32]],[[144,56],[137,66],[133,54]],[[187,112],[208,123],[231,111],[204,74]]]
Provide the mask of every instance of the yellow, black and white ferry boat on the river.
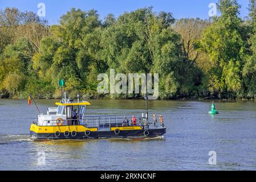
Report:
[[141,115],[87,115],[87,101],[64,98],[49,107],[46,114],[38,115],[31,123],[33,139],[88,139],[88,138],[133,138],[159,137],[166,133],[162,115],[148,111]]

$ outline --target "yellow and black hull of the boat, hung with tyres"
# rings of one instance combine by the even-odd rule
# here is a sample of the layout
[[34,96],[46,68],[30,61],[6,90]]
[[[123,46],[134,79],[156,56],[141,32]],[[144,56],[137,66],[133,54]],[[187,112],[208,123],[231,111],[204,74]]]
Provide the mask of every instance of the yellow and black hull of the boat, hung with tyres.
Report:
[[143,129],[141,126],[110,127],[108,130],[88,128],[84,125],[37,126],[31,124],[30,135],[35,139],[83,139],[83,138],[127,138],[159,137],[166,133],[166,128]]

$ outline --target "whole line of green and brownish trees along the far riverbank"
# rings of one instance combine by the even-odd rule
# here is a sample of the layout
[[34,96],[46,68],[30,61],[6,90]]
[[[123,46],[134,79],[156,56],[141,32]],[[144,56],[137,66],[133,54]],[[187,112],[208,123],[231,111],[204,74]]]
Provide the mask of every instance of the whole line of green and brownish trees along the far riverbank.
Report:
[[218,2],[220,16],[175,19],[152,7],[100,20],[71,9],[59,24],[35,13],[0,11],[0,97],[141,98],[99,94],[97,75],[159,73],[160,99],[256,98],[256,0],[239,17],[236,0]]

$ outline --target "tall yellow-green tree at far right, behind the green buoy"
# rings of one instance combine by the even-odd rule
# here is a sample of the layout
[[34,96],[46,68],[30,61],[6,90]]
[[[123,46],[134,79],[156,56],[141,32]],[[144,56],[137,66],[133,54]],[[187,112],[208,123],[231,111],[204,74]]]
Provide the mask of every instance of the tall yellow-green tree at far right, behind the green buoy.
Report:
[[218,3],[221,16],[205,29],[201,39],[201,48],[214,65],[206,77],[207,88],[219,97],[225,97],[225,93],[237,97],[243,92],[241,70],[246,53],[246,31],[238,16],[240,7],[235,0],[221,0]]

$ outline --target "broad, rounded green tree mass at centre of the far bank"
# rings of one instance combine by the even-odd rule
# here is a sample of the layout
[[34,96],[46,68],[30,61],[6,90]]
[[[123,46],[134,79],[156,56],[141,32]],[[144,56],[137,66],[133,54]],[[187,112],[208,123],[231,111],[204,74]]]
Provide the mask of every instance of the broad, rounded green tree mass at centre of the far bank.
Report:
[[123,73],[159,73],[161,98],[189,96],[201,84],[197,80],[200,72],[182,53],[184,44],[173,30],[174,21],[171,13],[155,13],[152,7],[120,15],[104,30],[101,41],[109,68]]

